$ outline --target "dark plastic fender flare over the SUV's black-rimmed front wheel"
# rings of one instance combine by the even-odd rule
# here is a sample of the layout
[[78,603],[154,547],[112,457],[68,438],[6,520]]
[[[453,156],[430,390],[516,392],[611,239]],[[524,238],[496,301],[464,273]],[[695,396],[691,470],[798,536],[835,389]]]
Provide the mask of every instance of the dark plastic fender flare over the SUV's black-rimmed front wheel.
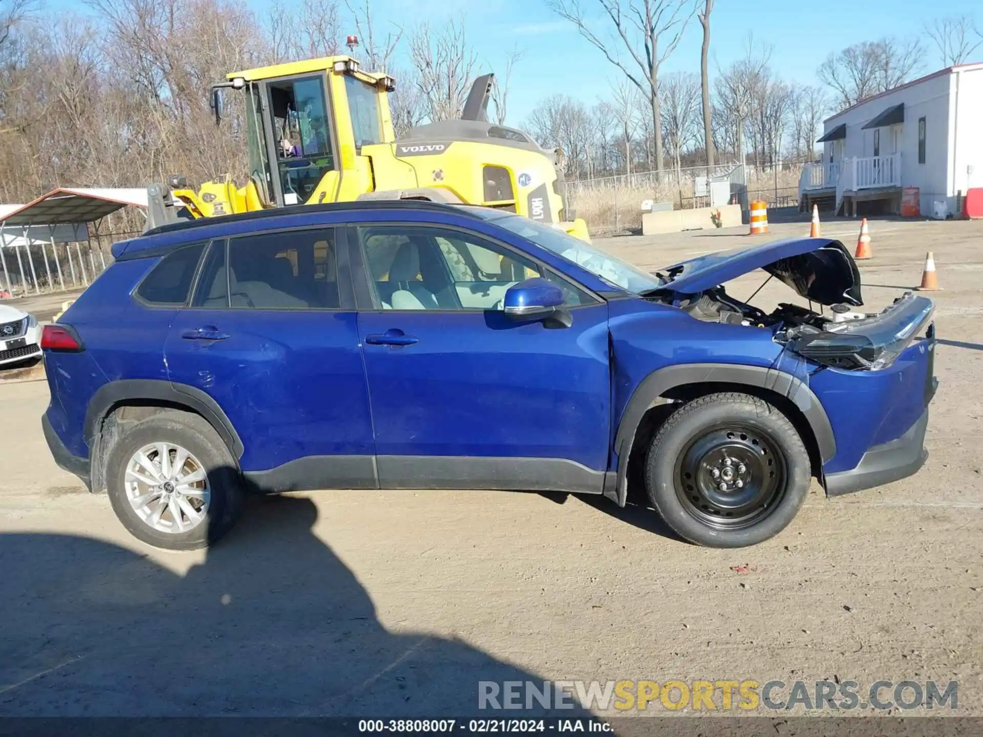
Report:
[[[635,442],[635,432],[642,417],[653,407],[668,402],[665,392],[677,386],[702,383],[733,384],[773,391],[786,397],[805,417],[819,448],[820,459],[826,463],[837,454],[837,441],[830,418],[819,399],[801,379],[785,371],[739,364],[678,364],[658,369],[646,376],[635,389],[621,414],[614,450],[617,453],[617,482],[607,491],[619,506],[625,505],[628,495],[628,456]],[[613,492],[613,493],[611,493]]]

